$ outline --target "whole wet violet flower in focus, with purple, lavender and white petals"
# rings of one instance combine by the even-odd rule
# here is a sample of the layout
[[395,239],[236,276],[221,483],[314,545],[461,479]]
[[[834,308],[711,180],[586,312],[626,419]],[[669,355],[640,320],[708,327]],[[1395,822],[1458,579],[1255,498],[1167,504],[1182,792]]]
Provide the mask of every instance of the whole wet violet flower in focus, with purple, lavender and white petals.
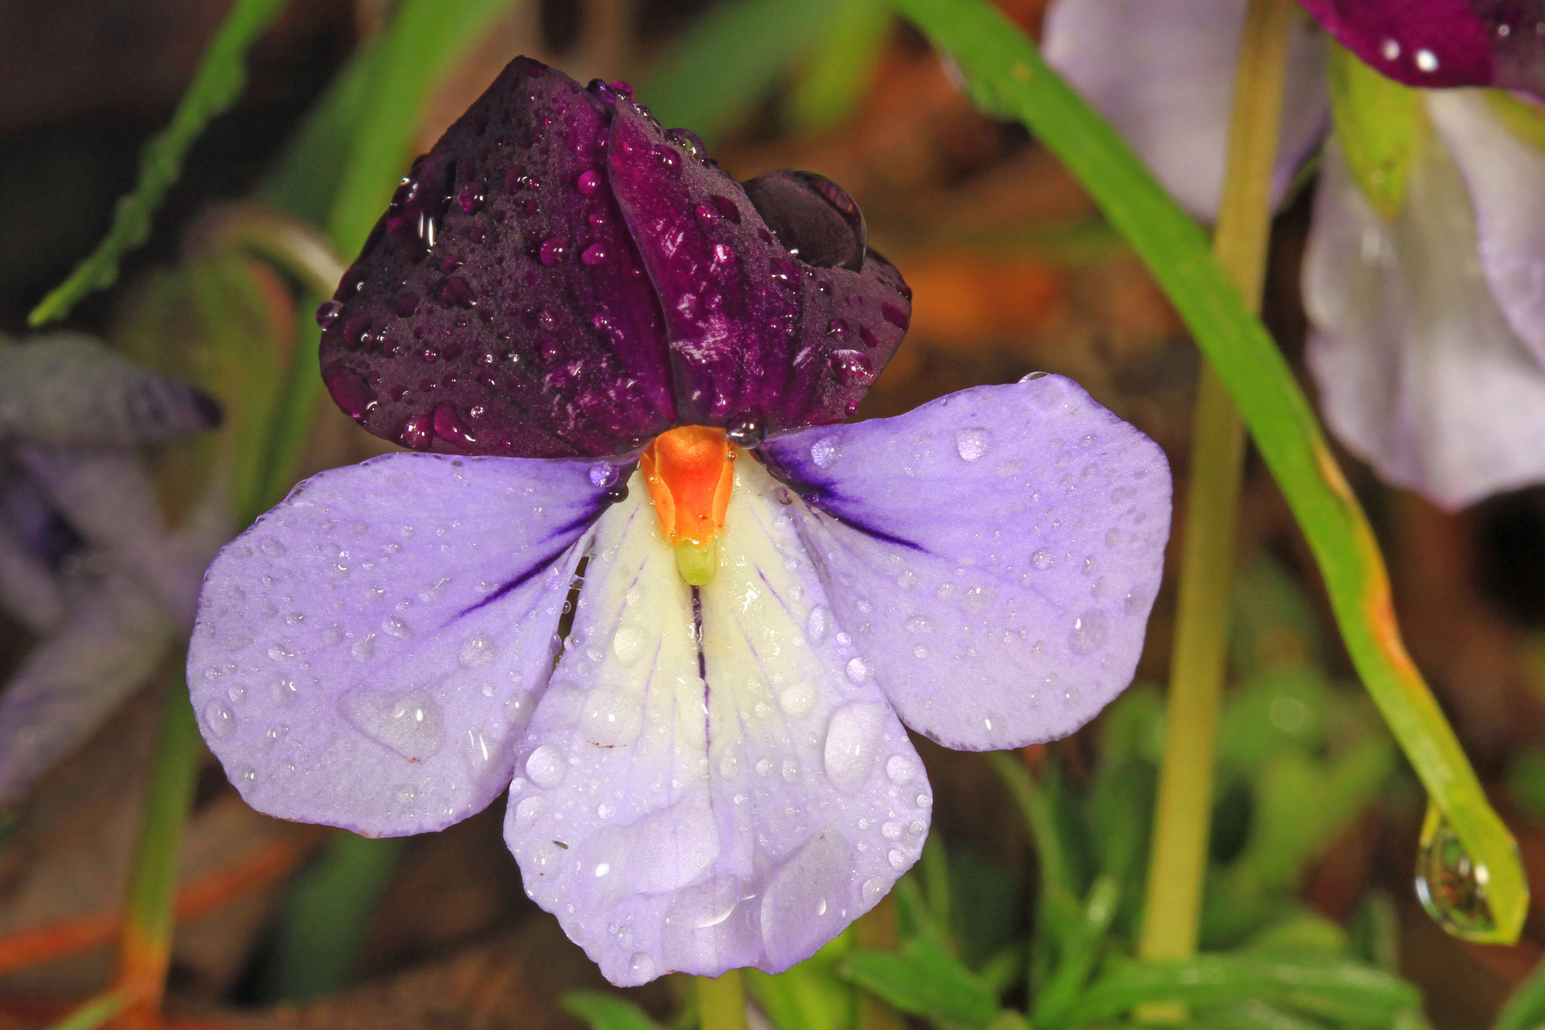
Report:
[[615,984],[814,953],[921,852],[904,724],[1082,726],[1170,527],[1163,454],[1061,377],[834,425],[908,298],[834,184],[737,184],[513,62],[318,312],[340,405],[437,452],[315,476],[209,570],[188,683],[233,783],[371,835],[508,789]]

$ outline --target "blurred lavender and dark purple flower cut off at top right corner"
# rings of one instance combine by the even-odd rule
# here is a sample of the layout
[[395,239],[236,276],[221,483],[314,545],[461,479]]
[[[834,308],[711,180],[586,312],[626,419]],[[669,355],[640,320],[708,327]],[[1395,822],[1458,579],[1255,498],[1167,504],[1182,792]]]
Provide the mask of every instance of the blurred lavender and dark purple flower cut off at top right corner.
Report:
[[[1046,20],[1048,59],[1202,218],[1216,213],[1221,190],[1244,6],[1058,0]],[[1469,39],[1454,28],[1458,14],[1491,19],[1489,39],[1509,54],[1540,46],[1537,19],[1505,12],[1505,5],[1306,6],[1363,57],[1360,39],[1406,40],[1400,53],[1417,62],[1395,76],[1406,82],[1428,74],[1418,65],[1429,63],[1420,54],[1441,36],[1434,26],[1448,25],[1454,46]],[[1536,42],[1517,49],[1523,28]],[[1326,40],[1315,36],[1306,25],[1292,43],[1279,202],[1284,184],[1327,136],[1326,60],[1315,56]],[[1537,90],[1525,71],[1545,68],[1539,56],[1522,65],[1513,57],[1466,63],[1458,49],[1434,53],[1448,71],[1429,76],[1429,85]],[[1374,63],[1398,71],[1389,60]],[[1482,77],[1482,66],[1496,71]],[[1506,68],[1513,71],[1503,74]],[[1545,480],[1545,151],[1514,133],[1483,91],[1423,91],[1420,103],[1423,128],[1432,131],[1417,134],[1392,216],[1375,210],[1340,147],[1326,144],[1304,264],[1309,364],[1326,422],[1343,443],[1386,480],[1457,508]],[[1523,119],[1540,117],[1530,100],[1505,103]]]

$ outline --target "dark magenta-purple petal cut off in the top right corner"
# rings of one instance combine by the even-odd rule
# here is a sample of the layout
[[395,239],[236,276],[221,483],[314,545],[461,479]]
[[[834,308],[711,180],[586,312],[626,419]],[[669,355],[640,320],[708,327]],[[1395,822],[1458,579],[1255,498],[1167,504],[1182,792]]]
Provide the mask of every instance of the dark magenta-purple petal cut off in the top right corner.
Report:
[[1545,97],[1540,0],[1301,2],[1344,46],[1397,82]]

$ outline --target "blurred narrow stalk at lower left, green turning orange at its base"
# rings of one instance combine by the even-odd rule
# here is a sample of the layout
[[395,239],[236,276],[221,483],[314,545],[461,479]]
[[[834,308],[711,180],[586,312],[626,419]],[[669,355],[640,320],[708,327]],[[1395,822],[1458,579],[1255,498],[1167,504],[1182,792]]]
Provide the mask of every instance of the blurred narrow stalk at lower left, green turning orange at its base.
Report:
[[128,999],[122,1016],[125,1027],[159,1024],[176,922],[171,906],[178,886],[178,851],[198,778],[198,743],[193,706],[179,676],[167,690],[124,911],[116,990]]

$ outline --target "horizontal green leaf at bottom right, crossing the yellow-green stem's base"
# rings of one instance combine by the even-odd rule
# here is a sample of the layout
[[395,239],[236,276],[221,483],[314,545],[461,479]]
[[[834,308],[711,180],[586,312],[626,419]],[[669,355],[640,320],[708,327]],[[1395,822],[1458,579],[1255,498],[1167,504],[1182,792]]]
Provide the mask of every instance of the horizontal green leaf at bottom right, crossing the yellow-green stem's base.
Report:
[[1069,1025],[1109,1019],[1145,1002],[1191,1010],[1259,1001],[1357,1027],[1387,1027],[1418,1005],[1417,988],[1353,962],[1200,954],[1179,962],[1112,964],[1068,1016]]

